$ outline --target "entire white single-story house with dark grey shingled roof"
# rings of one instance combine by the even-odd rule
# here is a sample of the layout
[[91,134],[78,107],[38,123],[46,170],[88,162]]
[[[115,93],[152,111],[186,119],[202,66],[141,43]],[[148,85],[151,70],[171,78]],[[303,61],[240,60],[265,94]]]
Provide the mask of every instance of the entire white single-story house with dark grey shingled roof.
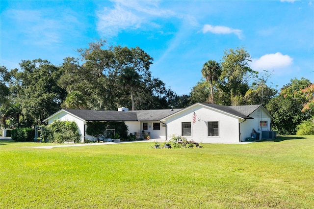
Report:
[[134,110],[118,108],[118,111],[61,109],[45,119],[75,121],[81,142],[94,140],[86,134],[87,122],[121,121],[129,133],[150,132],[152,139],[170,139],[181,135],[188,140],[202,143],[237,143],[246,141],[255,133],[262,138],[262,131],[270,131],[273,117],[261,105],[224,106],[196,103],[184,109]]

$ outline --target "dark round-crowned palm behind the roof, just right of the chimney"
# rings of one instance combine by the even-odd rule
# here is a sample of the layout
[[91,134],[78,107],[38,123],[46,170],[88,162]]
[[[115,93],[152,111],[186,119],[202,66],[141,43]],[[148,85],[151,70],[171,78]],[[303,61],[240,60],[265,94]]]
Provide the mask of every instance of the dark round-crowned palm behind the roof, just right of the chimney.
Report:
[[140,85],[141,76],[135,71],[133,67],[126,67],[123,69],[121,75],[121,83],[122,85],[130,90],[131,94],[131,102],[132,102],[132,110],[135,110],[134,107],[134,90]]

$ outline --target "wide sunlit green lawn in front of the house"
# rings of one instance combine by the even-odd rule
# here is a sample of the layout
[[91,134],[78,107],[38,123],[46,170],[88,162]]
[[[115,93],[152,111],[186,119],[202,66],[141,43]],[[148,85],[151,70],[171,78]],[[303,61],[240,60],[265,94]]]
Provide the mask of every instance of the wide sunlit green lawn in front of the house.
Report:
[[314,208],[314,135],[202,149],[0,142],[0,208]]

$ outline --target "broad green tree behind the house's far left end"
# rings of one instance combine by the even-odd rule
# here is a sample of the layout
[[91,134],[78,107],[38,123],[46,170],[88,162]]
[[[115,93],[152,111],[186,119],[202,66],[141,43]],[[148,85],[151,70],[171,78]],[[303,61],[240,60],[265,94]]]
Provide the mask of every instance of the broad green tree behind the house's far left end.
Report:
[[[60,109],[65,91],[57,85],[59,69],[47,60],[23,60],[21,70],[11,70],[9,83],[14,103],[20,104],[23,117],[39,123]],[[28,121],[31,123],[31,121]],[[29,124],[28,124],[29,125]]]

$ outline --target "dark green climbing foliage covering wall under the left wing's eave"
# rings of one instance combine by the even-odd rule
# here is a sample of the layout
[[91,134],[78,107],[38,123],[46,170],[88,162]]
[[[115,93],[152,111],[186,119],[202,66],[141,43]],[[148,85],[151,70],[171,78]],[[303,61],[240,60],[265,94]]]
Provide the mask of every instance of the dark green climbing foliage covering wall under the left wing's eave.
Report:
[[114,135],[106,136],[107,129],[115,129],[121,138],[128,138],[128,126],[124,122],[87,122],[86,133],[99,138],[114,138]]

